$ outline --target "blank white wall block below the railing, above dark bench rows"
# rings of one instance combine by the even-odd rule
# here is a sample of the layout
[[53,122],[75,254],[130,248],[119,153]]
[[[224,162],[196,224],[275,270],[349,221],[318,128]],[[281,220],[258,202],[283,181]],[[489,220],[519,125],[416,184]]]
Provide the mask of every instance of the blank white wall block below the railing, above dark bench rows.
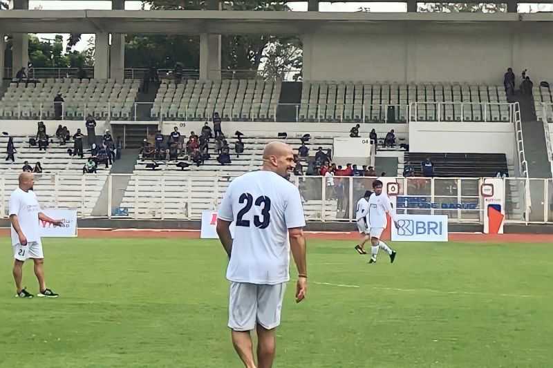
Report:
[[509,123],[411,123],[409,151],[505,153],[514,162],[514,127]]

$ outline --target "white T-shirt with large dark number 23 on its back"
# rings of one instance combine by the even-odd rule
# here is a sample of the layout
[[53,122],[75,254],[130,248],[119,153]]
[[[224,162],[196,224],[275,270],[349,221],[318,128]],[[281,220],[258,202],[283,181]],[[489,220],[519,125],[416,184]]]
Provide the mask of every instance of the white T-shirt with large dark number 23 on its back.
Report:
[[218,218],[236,225],[227,280],[250,284],[290,280],[288,229],[306,226],[294,184],[272,171],[236,177],[223,196]]

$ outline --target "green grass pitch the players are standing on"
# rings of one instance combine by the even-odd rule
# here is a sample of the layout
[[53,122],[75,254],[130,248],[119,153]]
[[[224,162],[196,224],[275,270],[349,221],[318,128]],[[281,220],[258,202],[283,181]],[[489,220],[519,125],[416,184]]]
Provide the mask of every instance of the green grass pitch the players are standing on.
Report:
[[[353,244],[308,242],[274,367],[553,366],[552,244],[399,243],[376,265]],[[241,367],[216,241],[46,239],[57,300],[14,298],[0,249],[0,367]]]

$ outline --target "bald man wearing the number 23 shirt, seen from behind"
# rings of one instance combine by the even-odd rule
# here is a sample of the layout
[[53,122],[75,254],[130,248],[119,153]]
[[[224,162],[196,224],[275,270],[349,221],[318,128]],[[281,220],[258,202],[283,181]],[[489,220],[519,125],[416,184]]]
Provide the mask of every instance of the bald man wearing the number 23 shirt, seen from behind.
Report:
[[[260,171],[236,177],[218,210],[217,233],[229,256],[229,322],[234,349],[245,367],[256,367],[250,331],[258,337],[257,364],[271,367],[275,328],[281,319],[290,249],[298,271],[296,302],[307,290],[306,220],[299,190],[288,181],[296,166],[288,144],[271,142]],[[230,224],[235,223],[234,239]]]

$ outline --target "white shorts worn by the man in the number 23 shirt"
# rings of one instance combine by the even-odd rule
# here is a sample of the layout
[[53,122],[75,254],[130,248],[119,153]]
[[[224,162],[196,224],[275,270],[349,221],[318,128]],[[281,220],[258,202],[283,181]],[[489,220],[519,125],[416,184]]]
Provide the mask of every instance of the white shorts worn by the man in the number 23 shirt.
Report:
[[250,331],[256,323],[265,329],[281,324],[282,300],[286,284],[261,285],[231,282],[229,324],[234,331]]

